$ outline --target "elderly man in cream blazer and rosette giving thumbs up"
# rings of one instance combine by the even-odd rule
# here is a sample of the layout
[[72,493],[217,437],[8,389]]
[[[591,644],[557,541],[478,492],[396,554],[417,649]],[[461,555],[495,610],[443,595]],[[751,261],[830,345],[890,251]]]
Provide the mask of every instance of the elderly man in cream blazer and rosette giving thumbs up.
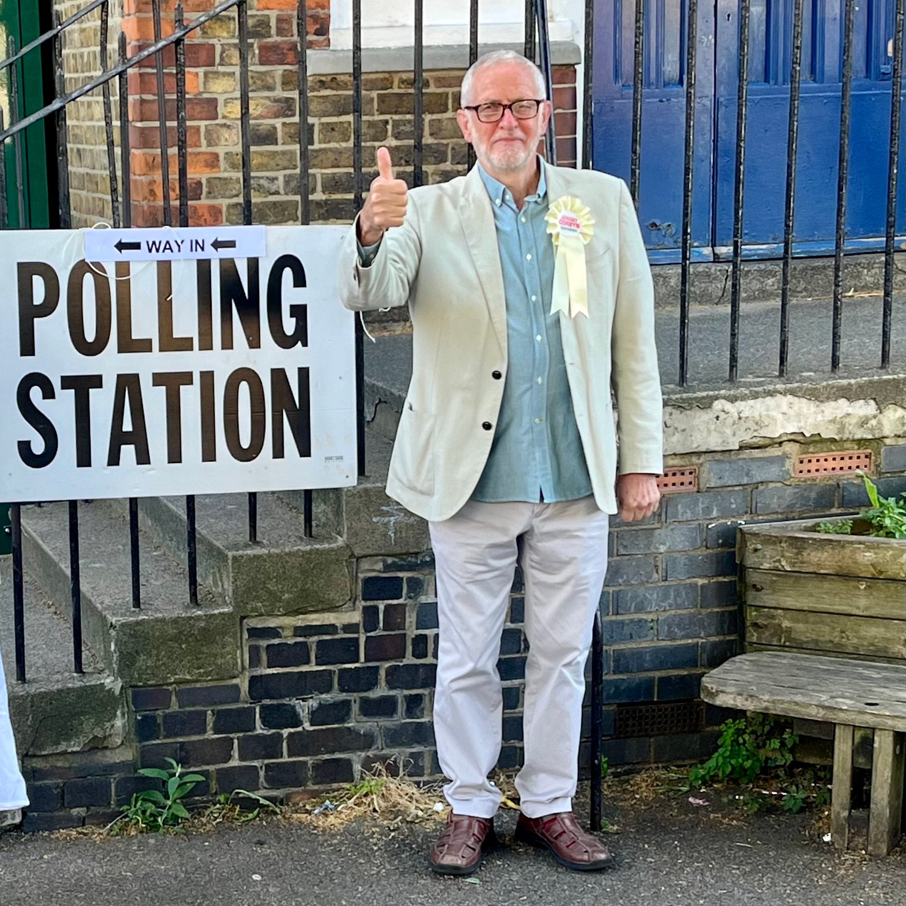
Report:
[[534,63],[486,54],[461,103],[477,167],[407,191],[379,149],[340,261],[348,308],[408,303],[412,318],[387,493],[429,521],[437,569],[434,728],[451,813],[430,863],[473,872],[494,839],[496,661],[518,559],[530,648],[516,839],[606,868],[572,798],[608,514],[644,518],[660,496],[651,272],[622,181],[539,158],[552,111]]

